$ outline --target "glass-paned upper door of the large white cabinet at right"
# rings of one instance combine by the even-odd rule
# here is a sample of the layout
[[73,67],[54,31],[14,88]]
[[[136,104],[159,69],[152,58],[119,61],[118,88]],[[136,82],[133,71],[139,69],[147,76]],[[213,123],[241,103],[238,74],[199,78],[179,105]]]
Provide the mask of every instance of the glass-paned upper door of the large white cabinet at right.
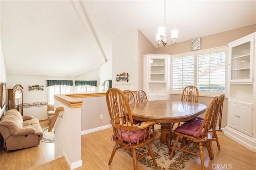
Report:
[[230,45],[230,81],[252,82],[253,39]]

